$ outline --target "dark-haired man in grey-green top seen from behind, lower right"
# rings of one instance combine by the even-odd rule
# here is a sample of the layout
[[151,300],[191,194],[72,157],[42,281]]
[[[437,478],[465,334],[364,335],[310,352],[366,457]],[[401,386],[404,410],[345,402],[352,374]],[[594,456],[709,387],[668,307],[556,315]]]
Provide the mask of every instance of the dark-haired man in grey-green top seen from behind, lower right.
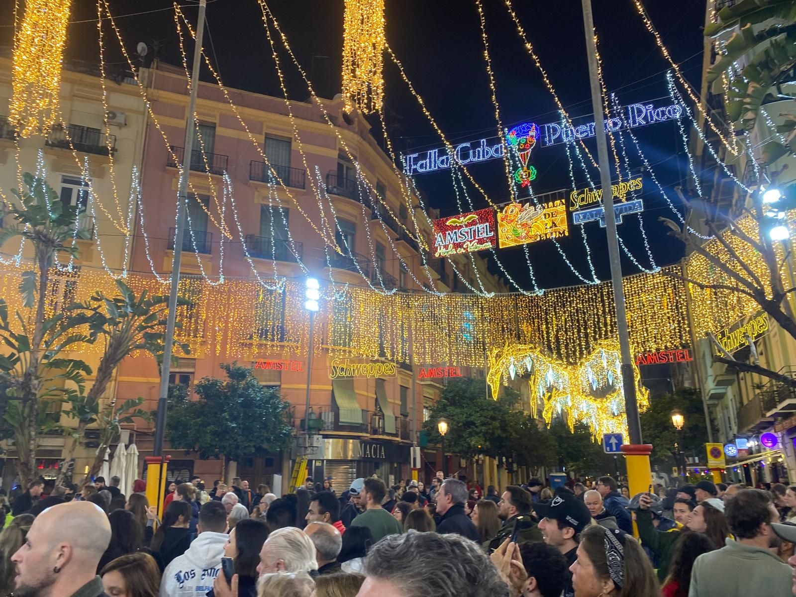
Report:
[[740,490],[724,513],[736,540],[696,558],[689,597],[790,595],[793,569],[771,552],[780,539],[771,526],[779,513],[770,494]]

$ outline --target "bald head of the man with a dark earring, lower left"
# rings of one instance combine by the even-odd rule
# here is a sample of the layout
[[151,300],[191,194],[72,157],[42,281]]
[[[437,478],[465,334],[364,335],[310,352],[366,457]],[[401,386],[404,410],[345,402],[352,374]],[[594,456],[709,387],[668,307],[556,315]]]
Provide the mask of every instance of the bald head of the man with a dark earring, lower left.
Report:
[[54,505],[36,517],[11,561],[14,597],[99,597],[97,564],[111,542],[106,514],[90,501]]

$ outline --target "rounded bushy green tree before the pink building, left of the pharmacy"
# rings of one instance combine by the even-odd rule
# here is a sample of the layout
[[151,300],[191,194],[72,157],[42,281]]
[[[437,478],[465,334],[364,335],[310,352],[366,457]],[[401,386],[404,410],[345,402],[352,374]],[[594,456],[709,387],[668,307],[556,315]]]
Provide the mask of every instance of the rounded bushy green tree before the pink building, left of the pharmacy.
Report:
[[258,448],[278,452],[293,438],[288,423],[290,403],[275,388],[265,388],[252,369],[232,363],[220,365],[227,379],[205,377],[194,391],[170,392],[166,438],[177,450],[195,451],[199,458],[240,460]]

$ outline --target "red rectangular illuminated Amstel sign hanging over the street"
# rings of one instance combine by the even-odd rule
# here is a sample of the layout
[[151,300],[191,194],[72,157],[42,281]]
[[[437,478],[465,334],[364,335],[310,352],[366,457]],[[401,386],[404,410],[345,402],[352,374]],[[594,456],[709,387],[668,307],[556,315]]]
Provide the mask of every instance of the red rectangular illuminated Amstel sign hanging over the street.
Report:
[[492,209],[434,220],[434,256],[446,257],[494,248],[495,214]]

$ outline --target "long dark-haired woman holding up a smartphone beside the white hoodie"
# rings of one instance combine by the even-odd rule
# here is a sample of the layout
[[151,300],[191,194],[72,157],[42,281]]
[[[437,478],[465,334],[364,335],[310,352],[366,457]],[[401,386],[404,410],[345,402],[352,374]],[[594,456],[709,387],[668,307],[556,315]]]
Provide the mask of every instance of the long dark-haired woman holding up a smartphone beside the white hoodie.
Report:
[[[268,537],[268,529],[264,522],[253,518],[240,521],[232,531],[224,545],[224,557],[221,559],[219,582],[224,576],[227,584],[232,583],[232,574],[238,576],[238,597],[257,597],[257,565],[259,551]],[[215,597],[210,590],[208,597]]]

